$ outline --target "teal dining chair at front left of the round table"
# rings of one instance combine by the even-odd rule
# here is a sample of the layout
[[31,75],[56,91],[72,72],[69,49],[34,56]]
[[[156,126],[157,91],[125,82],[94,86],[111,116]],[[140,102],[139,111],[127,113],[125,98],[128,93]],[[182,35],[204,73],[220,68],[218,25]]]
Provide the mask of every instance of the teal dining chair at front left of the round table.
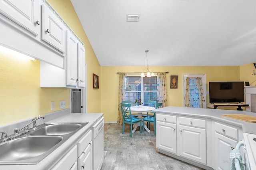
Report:
[[122,130],[122,134],[124,134],[124,125],[125,125],[125,123],[131,125],[131,134],[130,134],[131,137],[132,137],[132,125],[135,124],[135,123],[138,123],[138,122],[140,123],[140,132],[142,132],[142,130],[141,130],[142,119],[138,119],[136,117],[132,117],[131,104],[129,104],[129,103],[121,103],[121,110],[122,110],[122,117],[123,117],[123,130]]

